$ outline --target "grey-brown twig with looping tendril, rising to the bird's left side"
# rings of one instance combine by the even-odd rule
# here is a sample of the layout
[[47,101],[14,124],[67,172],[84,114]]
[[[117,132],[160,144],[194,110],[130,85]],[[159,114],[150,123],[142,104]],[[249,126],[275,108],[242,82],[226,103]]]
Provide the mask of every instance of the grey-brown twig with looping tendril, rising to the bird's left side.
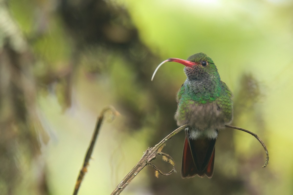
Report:
[[[162,141],[159,142],[159,144],[156,144],[153,148],[149,148],[144,152],[144,155],[142,158],[139,160],[139,162],[134,166],[134,168],[126,175],[126,177],[120,182],[120,184],[116,187],[116,189],[112,192],[111,195],[117,195],[122,192],[122,190],[131,182],[131,180],[139,173],[140,170],[142,170],[147,164],[151,165],[149,162],[154,160],[158,154],[166,156],[164,153],[158,153],[158,150],[163,144],[171,139],[171,137],[178,132],[184,130],[185,128],[189,127],[189,125],[183,125],[170,133],[167,137],[165,137]],[[169,155],[168,155],[169,156]],[[168,158],[168,157],[167,157]],[[170,157],[171,158],[171,157]],[[172,159],[172,158],[171,158]],[[173,159],[172,159],[173,161]],[[174,161],[173,161],[174,162]],[[154,165],[151,165],[154,167]],[[170,171],[171,173],[174,171]],[[156,170],[159,170],[156,168]],[[161,173],[161,172],[160,172]],[[166,173],[170,175],[171,173]],[[163,174],[164,175],[164,174]]]

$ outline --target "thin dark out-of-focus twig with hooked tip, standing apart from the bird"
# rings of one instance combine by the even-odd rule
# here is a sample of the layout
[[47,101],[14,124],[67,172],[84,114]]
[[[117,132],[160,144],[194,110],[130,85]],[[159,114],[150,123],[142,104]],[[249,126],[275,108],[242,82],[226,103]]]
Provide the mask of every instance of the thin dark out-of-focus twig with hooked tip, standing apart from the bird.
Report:
[[73,195],[76,195],[78,193],[78,190],[79,190],[81,181],[83,180],[84,175],[87,172],[87,167],[89,165],[89,160],[91,158],[91,154],[93,153],[93,147],[95,146],[96,139],[98,137],[98,133],[99,133],[101,124],[102,124],[103,119],[104,119],[104,115],[105,115],[105,113],[107,111],[111,111],[111,113],[112,113],[112,119],[114,118],[114,116],[119,115],[119,113],[115,110],[115,108],[113,106],[108,106],[108,107],[104,108],[101,111],[100,116],[98,117],[98,122],[96,124],[95,132],[93,133],[93,137],[92,137],[92,140],[91,140],[91,144],[89,145],[88,150],[86,152],[86,156],[84,158],[83,167],[81,168],[81,170],[79,172],[79,176],[77,177],[77,180],[76,180],[76,184],[75,184],[75,187],[74,187]]

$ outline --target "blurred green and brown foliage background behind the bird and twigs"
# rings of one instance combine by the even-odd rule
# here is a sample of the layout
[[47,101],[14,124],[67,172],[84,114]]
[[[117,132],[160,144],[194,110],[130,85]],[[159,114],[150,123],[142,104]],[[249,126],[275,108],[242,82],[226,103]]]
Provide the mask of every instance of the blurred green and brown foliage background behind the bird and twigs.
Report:
[[[180,175],[184,133],[167,142],[177,173],[145,167],[121,194],[293,194],[291,0],[0,0],[0,194],[71,194],[100,111],[79,194],[110,194],[143,152],[177,128],[183,65],[210,56],[234,94],[212,179]],[[168,172],[171,165],[154,163]]]

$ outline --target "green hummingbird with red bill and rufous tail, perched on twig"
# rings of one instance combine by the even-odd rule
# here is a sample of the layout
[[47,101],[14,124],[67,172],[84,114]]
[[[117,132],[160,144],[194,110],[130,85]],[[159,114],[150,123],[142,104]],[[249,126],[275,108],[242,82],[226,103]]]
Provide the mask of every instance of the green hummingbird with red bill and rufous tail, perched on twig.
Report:
[[198,53],[187,60],[169,58],[165,62],[185,65],[187,79],[177,94],[178,108],[175,119],[178,126],[185,124],[185,142],[182,156],[183,178],[211,178],[214,173],[215,143],[219,130],[233,119],[232,93],[221,81],[217,67],[206,54]]

